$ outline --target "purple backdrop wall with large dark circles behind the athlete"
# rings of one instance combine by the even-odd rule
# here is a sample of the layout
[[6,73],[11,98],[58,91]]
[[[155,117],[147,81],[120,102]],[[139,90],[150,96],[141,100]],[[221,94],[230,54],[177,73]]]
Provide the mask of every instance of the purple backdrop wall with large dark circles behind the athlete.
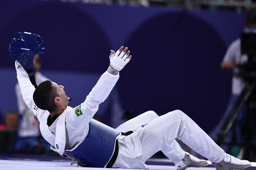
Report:
[[[43,71],[53,81],[65,83],[69,95],[76,96],[72,104],[84,101],[96,82],[84,75],[98,77],[108,67],[110,49],[125,45],[133,58],[117,83],[121,106],[132,109],[134,116],[148,110],[161,115],[179,109],[206,132],[228,103],[231,73],[222,72],[220,62],[245,21],[244,14],[227,11],[40,0],[4,1],[0,15],[0,74],[11,75],[0,83],[3,111],[16,107],[17,80],[14,61],[8,57],[9,43],[17,31],[27,31],[43,37]],[[57,76],[67,72],[70,79],[79,74],[79,82]],[[87,84],[84,94],[78,95],[77,90]]]

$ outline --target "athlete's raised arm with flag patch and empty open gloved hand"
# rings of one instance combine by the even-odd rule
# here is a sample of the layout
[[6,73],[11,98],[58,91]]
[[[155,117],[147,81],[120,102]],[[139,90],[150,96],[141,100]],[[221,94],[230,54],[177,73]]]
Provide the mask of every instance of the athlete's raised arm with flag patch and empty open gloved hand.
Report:
[[126,47],[123,50],[122,46],[117,53],[111,51],[111,63],[108,70],[101,75],[92,91],[87,95],[85,101],[68,113],[66,117],[68,125],[74,126],[74,129],[78,129],[83,128],[83,126],[77,126],[78,124],[86,126],[91,121],[94,114],[98,111],[99,104],[106,100],[119,79],[119,71],[130,61],[130,51],[127,51],[127,49]]

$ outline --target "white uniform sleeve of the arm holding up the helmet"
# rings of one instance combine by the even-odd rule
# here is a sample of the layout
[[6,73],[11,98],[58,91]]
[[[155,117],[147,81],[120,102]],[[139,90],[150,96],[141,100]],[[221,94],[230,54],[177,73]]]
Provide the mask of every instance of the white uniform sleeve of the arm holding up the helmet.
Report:
[[25,72],[23,67],[17,68],[16,71],[17,71],[17,79],[20,84],[22,98],[26,103],[26,105],[28,106],[28,108],[31,111],[33,111],[34,115],[40,121],[40,118],[42,117],[45,110],[39,109],[34,103],[33,94],[35,91],[35,87],[30,82],[29,76],[27,72]]

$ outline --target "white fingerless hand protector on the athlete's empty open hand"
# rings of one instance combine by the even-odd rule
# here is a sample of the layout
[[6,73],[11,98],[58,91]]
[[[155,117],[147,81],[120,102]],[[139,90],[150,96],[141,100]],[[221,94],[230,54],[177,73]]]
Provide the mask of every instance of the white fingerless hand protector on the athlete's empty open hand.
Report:
[[118,72],[131,60],[124,51],[118,50],[115,54],[110,54],[110,66]]

